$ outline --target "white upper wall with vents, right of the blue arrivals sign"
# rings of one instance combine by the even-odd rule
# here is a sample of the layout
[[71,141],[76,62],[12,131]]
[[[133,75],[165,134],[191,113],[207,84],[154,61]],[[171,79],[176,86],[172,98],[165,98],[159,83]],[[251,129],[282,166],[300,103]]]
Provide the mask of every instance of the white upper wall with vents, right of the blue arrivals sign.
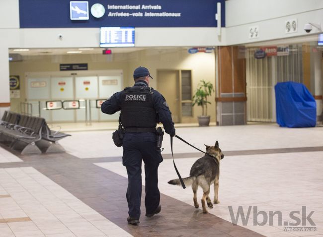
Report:
[[[298,31],[285,33],[285,21],[297,19]],[[304,24],[323,25],[323,0],[227,0],[226,45],[248,44],[318,34],[304,31]],[[249,27],[259,26],[259,38],[249,39]]]

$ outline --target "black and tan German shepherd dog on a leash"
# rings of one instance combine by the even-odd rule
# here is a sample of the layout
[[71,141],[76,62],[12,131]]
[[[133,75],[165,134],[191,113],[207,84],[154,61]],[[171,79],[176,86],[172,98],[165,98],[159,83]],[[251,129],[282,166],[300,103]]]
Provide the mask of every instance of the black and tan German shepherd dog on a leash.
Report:
[[[193,201],[195,208],[198,208],[198,202],[196,198],[196,192],[198,186],[201,186],[203,189],[202,197],[202,208],[203,213],[208,213],[205,207],[205,200],[209,208],[213,208],[213,204],[209,197],[210,186],[214,184],[214,199],[213,203],[219,203],[218,191],[219,191],[219,175],[220,175],[220,160],[223,159],[224,155],[222,154],[221,149],[219,148],[219,142],[216,141],[214,146],[206,146],[207,155],[195,161],[189,177],[183,178],[185,185],[192,185],[193,189]],[[172,179],[168,181],[169,184],[180,185],[179,179]]]

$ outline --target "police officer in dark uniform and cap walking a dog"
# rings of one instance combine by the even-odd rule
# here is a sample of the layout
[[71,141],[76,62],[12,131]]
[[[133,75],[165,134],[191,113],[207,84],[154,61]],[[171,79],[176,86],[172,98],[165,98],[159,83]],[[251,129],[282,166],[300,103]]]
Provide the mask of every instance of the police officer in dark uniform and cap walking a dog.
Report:
[[142,192],[141,164],[145,163],[146,216],[160,213],[158,167],[162,162],[161,149],[157,147],[156,125],[161,121],[165,132],[175,135],[174,123],[165,98],[149,87],[150,75],[146,67],[134,71],[135,84],[115,93],[101,105],[101,111],[112,115],[121,111],[121,123],[125,128],[122,164],[128,173],[127,202],[129,224],[137,225],[140,218]]

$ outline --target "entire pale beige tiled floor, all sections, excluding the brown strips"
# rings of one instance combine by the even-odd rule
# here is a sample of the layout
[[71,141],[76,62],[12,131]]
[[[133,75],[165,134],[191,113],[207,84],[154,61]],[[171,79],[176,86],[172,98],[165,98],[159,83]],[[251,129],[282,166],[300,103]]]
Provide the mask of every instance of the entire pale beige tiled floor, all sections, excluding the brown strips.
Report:
[[[71,124],[65,124],[62,130],[72,131],[72,136],[60,141],[68,153],[79,158],[122,156],[122,148],[115,147],[111,139],[116,124],[94,124],[87,129],[90,131],[79,131],[85,125],[69,126]],[[106,127],[101,130],[101,126]],[[213,145],[218,140],[224,152],[323,146],[323,127],[289,129],[276,124],[184,126],[176,127],[176,134],[201,149],[204,149],[203,144]],[[162,154],[170,154],[168,136],[164,137],[163,147]],[[174,139],[175,162],[182,177],[188,176],[191,165],[198,157],[176,159],[176,154],[192,152],[197,151]],[[249,206],[257,206],[258,211],[267,213],[281,211],[283,221],[291,221],[289,213],[306,206],[308,213],[314,211],[312,219],[317,225],[317,232],[284,232],[283,227],[278,226],[276,217],[272,226],[254,226],[253,213],[244,227],[269,237],[323,236],[322,159],[322,151],[225,156],[221,161],[220,204],[209,211],[231,222],[228,206],[233,206],[234,210],[242,206],[245,212]],[[21,161],[0,148],[0,163],[21,164]],[[126,177],[121,162],[97,165]],[[161,193],[192,206],[191,188],[183,190],[167,184],[172,178],[176,178],[172,161],[165,159],[159,170]],[[198,199],[201,198],[199,191]],[[192,213],[194,211],[192,206]],[[130,236],[34,168],[0,169],[0,219],[24,217],[29,217],[31,221],[0,223],[0,237]],[[258,222],[261,222],[260,216]],[[242,222],[238,224],[242,225]]]

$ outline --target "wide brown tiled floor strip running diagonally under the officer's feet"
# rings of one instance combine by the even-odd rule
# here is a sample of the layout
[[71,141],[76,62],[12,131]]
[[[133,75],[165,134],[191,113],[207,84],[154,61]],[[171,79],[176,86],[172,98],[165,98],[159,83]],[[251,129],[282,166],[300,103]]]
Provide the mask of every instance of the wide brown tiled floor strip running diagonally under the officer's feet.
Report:
[[[141,224],[131,226],[126,222],[127,178],[92,164],[93,159],[79,159],[66,153],[19,157],[24,162],[0,164],[0,168],[35,168],[135,237],[200,236],[201,234],[220,237],[262,236],[243,227],[233,226],[231,222],[215,215],[203,214],[201,210],[164,194],[161,194],[161,214],[147,218],[143,193]],[[145,190],[144,186],[143,190]]]

